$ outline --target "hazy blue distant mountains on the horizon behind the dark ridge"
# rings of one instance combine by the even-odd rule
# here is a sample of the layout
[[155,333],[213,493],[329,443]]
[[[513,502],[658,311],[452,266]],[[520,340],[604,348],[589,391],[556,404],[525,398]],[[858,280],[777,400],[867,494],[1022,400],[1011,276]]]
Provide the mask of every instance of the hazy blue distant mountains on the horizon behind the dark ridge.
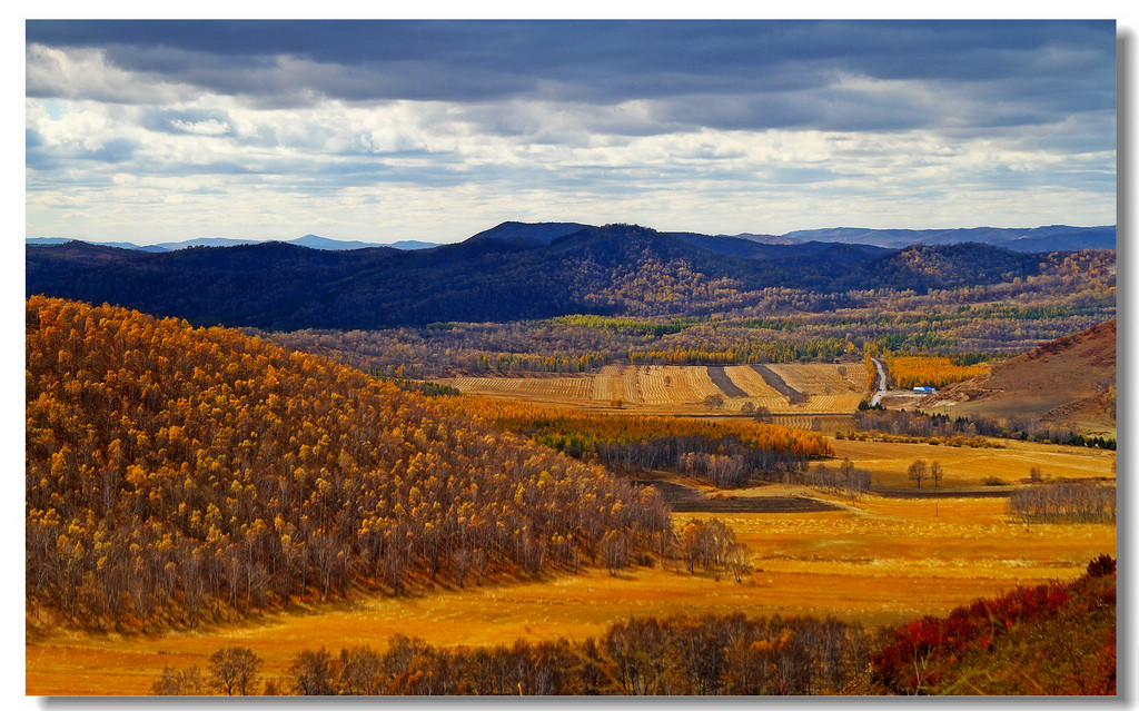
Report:
[[[572,235],[582,229],[595,227],[580,222],[503,222],[489,230],[478,232],[468,240],[497,239],[511,244],[525,245],[548,245],[552,240]],[[1079,250],[1114,250],[1115,227],[1070,227],[1066,224],[1052,224],[1035,228],[997,228],[997,227],[972,227],[957,229],[863,229],[852,227],[836,227],[814,230],[796,230],[786,235],[756,235],[743,232],[739,235],[699,235],[695,232],[666,232],[683,238],[691,244],[699,244],[705,248],[721,253],[732,253],[737,256],[751,256],[762,254],[760,248],[745,246],[740,243],[753,245],[797,245],[812,242],[841,243],[869,245],[900,250],[910,245],[947,245],[976,242],[998,247],[1005,247],[1014,252],[1067,252]],[[726,242],[726,240],[735,242]],[[28,237],[28,245],[51,245],[71,242],[63,237]],[[198,239],[187,239],[183,242],[167,242],[156,245],[136,245],[129,242],[90,242],[106,247],[118,247],[122,250],[140,250],[144,252],[173,252],[188,247],[232,247],[237,245],[262,244],[253,239],[231,239],[224,237],[203,237]],[[433,242],[419,242],[416,239],[404,239],[391,244],[378,244],[370,242],[346,242],[318,237],[317,235],[305,235],[296,239],[287,240],[293,244],[313,250],[369,250],[374,247],[393,247],[395,250],[431,250],[441,246]],[[716,247],[715,245],[719,245]]]

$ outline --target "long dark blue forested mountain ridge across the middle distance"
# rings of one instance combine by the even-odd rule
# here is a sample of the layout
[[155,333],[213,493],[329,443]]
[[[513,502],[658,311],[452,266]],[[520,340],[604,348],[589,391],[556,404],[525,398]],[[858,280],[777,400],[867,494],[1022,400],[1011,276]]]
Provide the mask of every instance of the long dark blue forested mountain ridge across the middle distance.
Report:
[[30,246],[26,294],[106,302],[200,325],[386,328],[570,313],[707,314],[748,305],[769,287],[924,293],[1025,278],[1046,260],[969,244],[882,251],[697,237],[613,224],[549,244],[480,238],[416,252],[284,243],[163,254]]

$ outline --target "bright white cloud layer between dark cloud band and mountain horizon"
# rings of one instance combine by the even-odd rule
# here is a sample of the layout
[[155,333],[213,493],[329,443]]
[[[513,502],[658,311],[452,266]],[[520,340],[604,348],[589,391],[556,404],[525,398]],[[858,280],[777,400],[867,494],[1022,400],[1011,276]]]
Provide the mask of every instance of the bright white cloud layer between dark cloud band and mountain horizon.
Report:
[[[28,50],[27,73],[28,236],[454,240],[508,219],[734,234],[1115,214],[1111,116],[1032,131],[715,129],[694,117],[755,99],[708,98],[685,115],[671,99],[272,107],[125,73],[96,50],[44,48]],[[105,100],[68,99],[79,82]],[[912,80],[844,75],[829,96],[834,113],[903,99],[981,111]]]

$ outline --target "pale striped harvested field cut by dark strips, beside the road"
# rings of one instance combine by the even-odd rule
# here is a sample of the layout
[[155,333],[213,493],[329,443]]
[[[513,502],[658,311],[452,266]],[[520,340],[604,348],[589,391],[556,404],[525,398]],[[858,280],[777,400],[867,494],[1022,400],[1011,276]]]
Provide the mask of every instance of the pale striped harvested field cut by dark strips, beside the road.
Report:
[[507,398],[579,409],[622,409],[663,415],[707,414],[704,399],[724,398],[723,411],[739,412],[745,403],[772,414],[853,412],[866,395],[863,363],[780,363],[769,366],[793,389],[808,395],[792,404],[751,366],[727,366],[728,378],[746,397],[728,397],[712,382],[704,366],[605,366],[593,374],[519,377],[454,377],[436,382],[464,394]]

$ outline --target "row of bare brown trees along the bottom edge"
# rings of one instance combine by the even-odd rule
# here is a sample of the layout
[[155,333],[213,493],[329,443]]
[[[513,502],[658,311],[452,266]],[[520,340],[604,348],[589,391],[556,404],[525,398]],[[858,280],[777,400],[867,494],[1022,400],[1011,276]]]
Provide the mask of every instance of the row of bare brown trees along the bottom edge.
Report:
[[[437,647],[396,635],[383,652],[370,646],[334,654],[306,649],[268,692],[297,695],[806,695],[836,694],[868,663],[870,636],[834,618],[743,614],[632,618],[600,638],[495,647]],[[167,685],[155,694],[218,692]],[[188,676],[188,675],[182,675]],[[200,676],[200,675],[199,675]],[[211,679],[215,679],[212,676]]]

